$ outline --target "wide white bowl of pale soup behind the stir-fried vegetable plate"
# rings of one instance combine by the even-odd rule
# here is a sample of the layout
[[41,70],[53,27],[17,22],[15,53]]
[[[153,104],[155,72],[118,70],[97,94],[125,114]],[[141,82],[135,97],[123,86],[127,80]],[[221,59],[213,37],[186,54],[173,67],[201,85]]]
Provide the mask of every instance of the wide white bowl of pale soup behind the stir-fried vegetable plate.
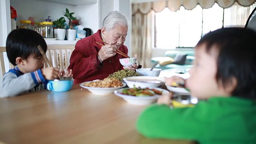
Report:
[[124,82],[129,86],[129,88],[140,87],[160,87],[165,84],[164,78],[158,76],[131,76],[124,78]]

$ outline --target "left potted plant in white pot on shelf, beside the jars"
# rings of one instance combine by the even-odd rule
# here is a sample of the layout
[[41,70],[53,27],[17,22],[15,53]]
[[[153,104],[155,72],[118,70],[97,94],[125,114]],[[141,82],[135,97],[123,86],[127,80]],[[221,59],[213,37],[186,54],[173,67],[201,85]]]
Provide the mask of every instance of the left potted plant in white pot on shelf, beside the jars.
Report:
[[58,40],[65,39],[65,35],[66,35],[66,29],[64,29],[65,22],[66,20],[64,17],[60,17],[59,19],[52,22],[54,25],[54,36]]

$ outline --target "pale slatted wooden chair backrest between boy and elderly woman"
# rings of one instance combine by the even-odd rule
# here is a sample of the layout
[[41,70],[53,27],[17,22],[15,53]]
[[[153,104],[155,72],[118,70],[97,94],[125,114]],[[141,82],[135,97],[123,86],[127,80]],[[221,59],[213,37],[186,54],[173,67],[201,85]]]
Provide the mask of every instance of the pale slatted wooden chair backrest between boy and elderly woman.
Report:
[[[69,66],[70,56],[74,50],[74,45],[48,45],[46,56],[52,63],[53,67],[65,70]],[[44,67],[50,65],[45,62]]]

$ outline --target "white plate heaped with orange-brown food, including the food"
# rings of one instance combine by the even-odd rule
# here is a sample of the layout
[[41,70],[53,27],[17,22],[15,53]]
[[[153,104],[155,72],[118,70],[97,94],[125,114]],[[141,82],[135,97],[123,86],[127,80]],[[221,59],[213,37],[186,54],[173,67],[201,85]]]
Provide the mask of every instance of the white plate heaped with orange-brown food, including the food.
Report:
[[105,78],[104,80],[82,82],[80,86],[82,88],[86,88],[93,94],[112,94],[114,90],[125,87],[126,83],[120,82],[116,79],[113,80]]

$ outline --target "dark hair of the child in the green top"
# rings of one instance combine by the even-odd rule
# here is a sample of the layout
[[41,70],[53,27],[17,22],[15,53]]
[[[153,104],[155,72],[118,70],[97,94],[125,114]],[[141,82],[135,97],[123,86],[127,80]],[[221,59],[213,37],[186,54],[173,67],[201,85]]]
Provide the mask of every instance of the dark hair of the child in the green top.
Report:
[[236,78],[233,96],[256,99],[256,32],[246,28],[222,28],[209,32],[197,45],[206,44],[206,52],[216,49],[216,80],[227,86]]

